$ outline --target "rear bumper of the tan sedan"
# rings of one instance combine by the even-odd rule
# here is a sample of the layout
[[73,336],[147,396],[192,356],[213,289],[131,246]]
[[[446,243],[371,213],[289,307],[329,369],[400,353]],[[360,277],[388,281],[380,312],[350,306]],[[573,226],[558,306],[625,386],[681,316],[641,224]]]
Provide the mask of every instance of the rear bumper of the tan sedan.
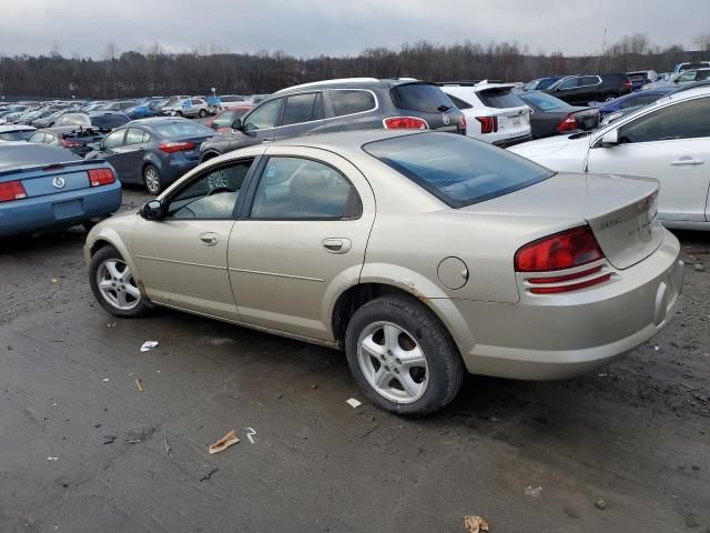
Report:
[[[680,304],[683,263],[678,240],[619,271],[608,285],[566,295],[524,298],[517,304],[457,301],[473,346],[459,346],[469,372],[555,380],[602,366],[646,342]],[[456,335],[455,335],[456,336]]]

